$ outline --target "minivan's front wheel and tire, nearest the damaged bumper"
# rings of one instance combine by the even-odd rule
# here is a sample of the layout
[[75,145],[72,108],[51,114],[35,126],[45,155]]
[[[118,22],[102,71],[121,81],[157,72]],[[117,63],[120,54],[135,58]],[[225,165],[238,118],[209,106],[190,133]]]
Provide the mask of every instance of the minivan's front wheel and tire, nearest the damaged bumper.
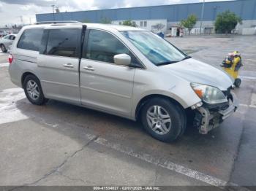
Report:
[[142,109],[145,130],[155,139],[171,142],[183,135],[187,125],[184,109],[167,98],[152,98]]

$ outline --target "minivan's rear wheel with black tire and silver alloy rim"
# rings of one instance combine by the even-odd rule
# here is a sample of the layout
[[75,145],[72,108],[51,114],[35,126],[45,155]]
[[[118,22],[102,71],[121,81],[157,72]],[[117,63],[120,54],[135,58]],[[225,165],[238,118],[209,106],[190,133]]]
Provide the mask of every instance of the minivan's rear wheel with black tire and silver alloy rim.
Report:
[[40,106],[48,101],[42,93],[42,87],[39,79],[34,75],[28,75],[24,79],[23,88],[26,94],[26,98],[29,99],[31,104]]

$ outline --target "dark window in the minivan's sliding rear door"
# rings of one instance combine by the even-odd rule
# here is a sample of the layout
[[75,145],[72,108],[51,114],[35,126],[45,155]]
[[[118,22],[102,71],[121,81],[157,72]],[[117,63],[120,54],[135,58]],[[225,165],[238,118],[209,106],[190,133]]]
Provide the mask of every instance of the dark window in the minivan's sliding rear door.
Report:
[[47,55],[77,57],[80,29],[50,29],[46,47]]

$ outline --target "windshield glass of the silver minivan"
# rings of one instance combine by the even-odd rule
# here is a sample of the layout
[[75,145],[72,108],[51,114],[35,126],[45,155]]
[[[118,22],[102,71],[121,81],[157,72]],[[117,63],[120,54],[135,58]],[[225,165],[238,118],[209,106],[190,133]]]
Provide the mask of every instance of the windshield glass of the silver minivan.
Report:
[[187,58],[181,50],[150,31],[121,31],[121,34],[157,66],[176,63]]

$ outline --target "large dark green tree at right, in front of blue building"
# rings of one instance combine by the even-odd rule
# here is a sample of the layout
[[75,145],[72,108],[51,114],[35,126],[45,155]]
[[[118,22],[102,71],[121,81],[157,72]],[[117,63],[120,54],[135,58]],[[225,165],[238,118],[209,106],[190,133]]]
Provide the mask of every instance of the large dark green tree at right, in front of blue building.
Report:
[[214,26],[217,33],[230,34],[238,23],[242,23],[241,17],[227,10],[217,15]]

